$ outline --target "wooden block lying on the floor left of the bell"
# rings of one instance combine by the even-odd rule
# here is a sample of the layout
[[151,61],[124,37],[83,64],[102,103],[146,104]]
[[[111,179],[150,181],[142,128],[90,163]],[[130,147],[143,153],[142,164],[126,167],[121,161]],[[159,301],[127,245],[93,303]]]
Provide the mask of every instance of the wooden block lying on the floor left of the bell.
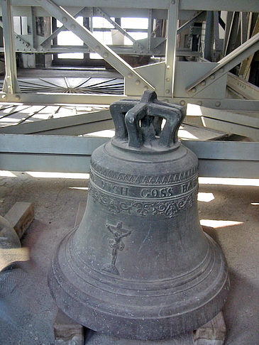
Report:
[[31,202],[16,202],[4,216],[16,231],[19,239],[31,225],[34,219],[33,204]]

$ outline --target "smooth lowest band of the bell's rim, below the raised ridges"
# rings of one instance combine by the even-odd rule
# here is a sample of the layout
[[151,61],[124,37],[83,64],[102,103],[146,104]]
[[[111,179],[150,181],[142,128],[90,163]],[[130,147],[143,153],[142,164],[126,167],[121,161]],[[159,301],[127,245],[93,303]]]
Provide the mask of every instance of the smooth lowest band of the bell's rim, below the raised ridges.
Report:
[[[173,339],[174,336],[177,336],[179,334],[182,334],[184,332],[192,332],[195,329],[198,329],[199,327],[201,327],[203,324],[206,324],[206,322],[209,322],[211,319],[213,319],[217,314],[219,314],[219,312],[221,312],[222,308],[224,307],[224,304],[226,303],[227,297],[228,297],[228,292],[230,290],[230,282],[229,282],[229,275],[228,275],[228,270],[226,270],[225,272],[225,279],[224,282],[221,285],[221,288],[218,290],[218,292],[214,295],[214,297],[211,297],[211,299],[209,299],[208,301],[206,301],[204,304],[199,305],[199,307],[197,308],[193,308],[192,310],[187,310],[186,312],[181,312],[181,313],[177,313],[177,314],[171,314],[168,316],[162,316],[162,317],[134,317],[133,319],[130,319],[128,317],[123,317],[121,315],[118,314],[111,314],[111,313],[107,313],[107,312],[103,312],[103,311],[99,311],[99,310],[94,310],[94,307],[89,308],[86,307],[85,310],[86,312],[84,312],[85,315],[90,314],[89,311],[93,311],[94,314],[96,314],[96,317],[94,319],[105,319],[106,320],[106,325],[108,324],[107,327],[98,327],[97,322],[93,322],[93,321],[89,321],[90,318],[87,319],[87,317],[84,317],[84,320],[82,321],[82,317],[80,318],[77,314],[77,306],[80,308],[81,305],[78,301],[73,300],[72,301],[72,308],[69,308],[67,305],[64,305],[64,303],[62,303],[65,298],[61,297],[59,301],[57,301],[56,299],[56,295],[53,291],[52,288],[52,283],[51,283],[51,271],[48,274],[48,285],[50,288],[50,294],[52,295],[53,299],[55,300],[55,302],[57,303],[57,306],[60,308],[60,310],[62,310],[62,312],[65,312],[65,314],[67,314],[67,316],[69,316],[70,318],[74,319],[76,322],[78,322],[79,324],[83,324],[85,327],[88,327],[89,329],[94,330],[95,332],[100,332],[100,333],[104,333],[104,334],[108,334],[111,336],[114,336],[114,334],[116,333],[118,337],[123,338],[123,339],[136,339],[136,340],[167,340],[167,339]],[[68,297],[71,297],[70,295],[67,294]],[[212,307],[212,306],[214,307]],[[188,317],[187,315],[192,316],[192,325],[189,325],[189,327],[186,327],[186,324],[184,325],[184,327],[179,327],[179,325],[181,326],[183,322],[182,319],[184,319],[184,317]],[[202,315],[202,318],[201,318]],[[106,317],[111,317],[112,322],[107,322]],[[117,333],[115,331],[116,327],[118,327],[118,321],[120,321],[122,324],[125,324],[126,322],[126,332],[125,332],[125,328],[124,331]],[[141,329],[140,327],[140,323],[144,322],[144,330]],[[143,332],[143,334],[146,334],[145,330],[147,331],[148,329],[150,329],[150,324],[153,324],[153,322],[165,322],[165,326],[162,328],[165,331],[165,328],[167,327],[168,322],[171,322],[172,325],[174,326],[174,329],[179,329],[175,332],[172,332],[172,330],[169,332],[163,332],[161,331],[161,328],[158,329],[157,332],[155,332],[155,335],[153,336],[147,336],[146,335],[137,335],[137,336],[133,336],[133,332],[134,332],[134,327],[140,327],[141,331]],[[177,326],[175,327],[175,324],[177,324]],[[114,329],[114,332],[113,330]],[[141,334],[141,333],[140,333]]]

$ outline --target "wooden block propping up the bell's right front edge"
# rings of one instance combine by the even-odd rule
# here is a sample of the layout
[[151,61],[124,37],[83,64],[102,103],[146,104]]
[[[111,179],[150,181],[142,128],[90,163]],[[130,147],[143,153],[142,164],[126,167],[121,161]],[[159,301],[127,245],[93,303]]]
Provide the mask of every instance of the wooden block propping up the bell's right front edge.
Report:
[[223,345],[226,337],[226,324],[222,312],[210,322],[194,332],[195,345]]

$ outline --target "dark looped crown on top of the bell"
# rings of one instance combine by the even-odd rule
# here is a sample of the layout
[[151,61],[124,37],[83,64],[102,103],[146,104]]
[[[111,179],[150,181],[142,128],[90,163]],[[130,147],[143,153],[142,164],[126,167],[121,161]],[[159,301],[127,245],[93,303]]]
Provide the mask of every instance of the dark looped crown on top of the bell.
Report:
[[[158,101],[157,94],[146,90],[140,101],[121,99],[110,106],[114,120],[114,146],[129,150],[161,151],[179,146],[177,132],[185,116],[178,104]],[[165,119],[165,126],[162,120]]]

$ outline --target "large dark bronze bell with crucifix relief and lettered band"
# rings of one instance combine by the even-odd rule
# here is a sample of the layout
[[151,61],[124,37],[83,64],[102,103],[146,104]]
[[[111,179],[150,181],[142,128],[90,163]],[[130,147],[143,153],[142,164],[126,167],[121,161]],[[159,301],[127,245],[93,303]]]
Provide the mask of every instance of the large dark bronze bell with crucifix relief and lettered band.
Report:
[[115,136],[92,154],[87,208],[57,248],[50,290],[97,332],[170,339],[221,311],[226,262],[199,225],[198,159],[177,140],[182,106],[145,91],[110,111]]

